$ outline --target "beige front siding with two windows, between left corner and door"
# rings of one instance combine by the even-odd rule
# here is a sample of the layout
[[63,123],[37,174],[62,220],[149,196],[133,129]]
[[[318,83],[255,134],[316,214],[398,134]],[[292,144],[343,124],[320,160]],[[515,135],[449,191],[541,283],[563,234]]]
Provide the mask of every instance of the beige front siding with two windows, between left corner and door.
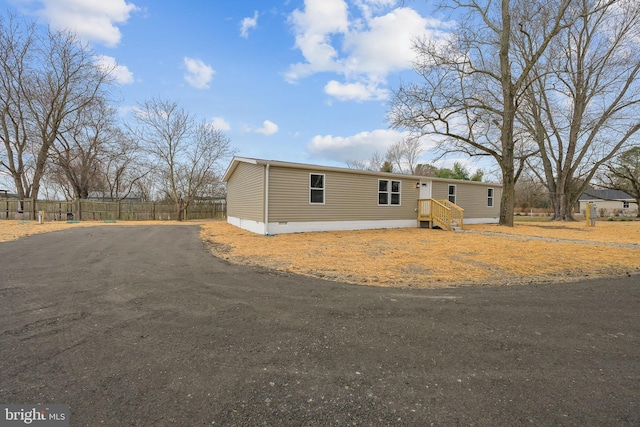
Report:
[[[309,203],[309,174],[325,176],[325,202]],[[378,177],[353,172],[272,166],[269,173],[269,221],[368,221],[415,219],[419,190],[415,179],[401,181],[400,206],[378,206]]]

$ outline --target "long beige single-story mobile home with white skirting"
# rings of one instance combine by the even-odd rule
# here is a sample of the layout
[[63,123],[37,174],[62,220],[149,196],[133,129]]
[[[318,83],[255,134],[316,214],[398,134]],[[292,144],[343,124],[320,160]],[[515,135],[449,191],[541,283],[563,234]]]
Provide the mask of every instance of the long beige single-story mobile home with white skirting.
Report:
[[464,209],[466,224],[497,223],[502,195],[501,184],[242,157],[231,161],[223,181],[227,221],[259,234],[446,228],[424,212],[422,201],[433,199],[441,203],[431,212],[455,204]]

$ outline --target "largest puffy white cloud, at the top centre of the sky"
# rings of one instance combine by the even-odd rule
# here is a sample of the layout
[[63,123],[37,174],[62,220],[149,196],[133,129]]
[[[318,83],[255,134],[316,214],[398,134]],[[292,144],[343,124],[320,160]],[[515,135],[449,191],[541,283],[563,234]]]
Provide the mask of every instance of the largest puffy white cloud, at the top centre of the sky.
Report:
[[396,0],[306,0],[303,10],[290,16],[295,46],[304,62],[291,64],[285,72],[295,83],[315,73],[333,72],[325,92],[341,101],[379,100],[388,96],[383,88],[389,73],[410,69],[415,58],[413,41],[421,36],[442,36],[449,25],[425,18]]

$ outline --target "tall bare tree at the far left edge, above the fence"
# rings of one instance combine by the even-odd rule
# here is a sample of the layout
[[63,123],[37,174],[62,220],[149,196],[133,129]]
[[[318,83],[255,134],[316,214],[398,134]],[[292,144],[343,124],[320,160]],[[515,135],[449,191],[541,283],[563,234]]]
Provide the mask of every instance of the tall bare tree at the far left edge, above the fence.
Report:
[[0,167],[19,198],[38,198],[65,119],[105,96],[110,82],[110,70],[73,34],[0,17]]

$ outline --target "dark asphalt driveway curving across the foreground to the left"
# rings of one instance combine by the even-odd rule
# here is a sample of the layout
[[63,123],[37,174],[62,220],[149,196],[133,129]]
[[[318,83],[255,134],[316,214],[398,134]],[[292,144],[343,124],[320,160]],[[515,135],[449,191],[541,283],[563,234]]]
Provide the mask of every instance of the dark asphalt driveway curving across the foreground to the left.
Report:
[[198,232],[0,243],[0,403],[72,426],[640,425],[639,276],[370,288],[229,265]]

